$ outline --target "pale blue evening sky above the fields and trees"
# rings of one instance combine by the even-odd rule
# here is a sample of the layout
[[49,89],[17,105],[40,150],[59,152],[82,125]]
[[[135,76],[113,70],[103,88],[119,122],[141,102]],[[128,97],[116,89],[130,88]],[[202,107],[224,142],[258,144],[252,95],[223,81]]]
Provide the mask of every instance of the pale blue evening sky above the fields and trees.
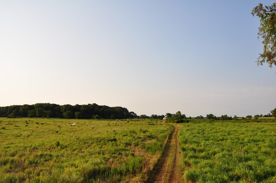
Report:
[[0,106],[268,114],[276,69],[255,63],[259,2],[1,1]]

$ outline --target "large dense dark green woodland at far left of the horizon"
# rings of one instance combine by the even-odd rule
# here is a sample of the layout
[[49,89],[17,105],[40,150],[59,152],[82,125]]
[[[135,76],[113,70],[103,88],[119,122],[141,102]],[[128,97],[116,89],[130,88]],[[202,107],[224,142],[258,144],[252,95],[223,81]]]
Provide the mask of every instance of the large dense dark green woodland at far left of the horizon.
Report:
[[136,113],[129,112],[123,107],[109,107],[106,105],[58,105],[37,103],[33,105],[11,105],[0,107],[0,117],[47,117],[67,119],[128,119],[138,118]]

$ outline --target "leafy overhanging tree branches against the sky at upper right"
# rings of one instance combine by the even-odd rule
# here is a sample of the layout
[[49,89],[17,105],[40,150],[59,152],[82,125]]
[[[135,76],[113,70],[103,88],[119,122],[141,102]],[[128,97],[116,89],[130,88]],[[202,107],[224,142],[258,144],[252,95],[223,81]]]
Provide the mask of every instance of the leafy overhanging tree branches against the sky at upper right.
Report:
[[276,3],[271,6],[256,6],[251,14],[260,18],[258,39],[263,39],[264,51],[260,53],[257,64],[268,63],[269,67],[276,66]]

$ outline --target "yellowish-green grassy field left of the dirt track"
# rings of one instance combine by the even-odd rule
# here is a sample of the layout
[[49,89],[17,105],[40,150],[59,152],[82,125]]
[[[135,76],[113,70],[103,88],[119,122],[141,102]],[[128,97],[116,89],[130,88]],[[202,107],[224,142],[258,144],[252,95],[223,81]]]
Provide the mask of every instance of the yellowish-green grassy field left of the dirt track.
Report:
[[163,120],[0,118],[0,182],[142,182],[172,129]]

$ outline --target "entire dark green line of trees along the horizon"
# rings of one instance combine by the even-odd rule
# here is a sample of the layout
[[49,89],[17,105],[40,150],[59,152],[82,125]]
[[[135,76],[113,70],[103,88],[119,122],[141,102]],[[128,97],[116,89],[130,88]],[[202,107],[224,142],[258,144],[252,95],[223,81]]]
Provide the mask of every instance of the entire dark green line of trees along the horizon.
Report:
[[[276,118],[276,108],[266,115],[256,114],[254,117],[275,117]],[[142,114],[138,116],[133,111],[129,112],[127,108],[123,107],[109,107],[106,105],[98,104],[84,104],[84,105],[59,105],[50,103],[37,103],[37,104],[24,104],[24,105],[11,105],[0,107],[0,117],[47,117],[47,118],[67,118],[67,119],[163,119],[164,115],[152,114],[147,116]],[[167,121],[177,121],[181,123],[188,119],[185,114],[181,114],[177,111],[176,114],[166,113]],[[228,115],[222,115],[221,117],[216,117],[213,114],[206,114],[206,117],[202,115],[197,117],[189,117],[189,119],[212,119],[212,120],[232,120],[237,119],[236,115],[234,117]],[[244,119],[244,117],[241,117]],[[252,116],[248,115],[246,118],[251,119]]]

